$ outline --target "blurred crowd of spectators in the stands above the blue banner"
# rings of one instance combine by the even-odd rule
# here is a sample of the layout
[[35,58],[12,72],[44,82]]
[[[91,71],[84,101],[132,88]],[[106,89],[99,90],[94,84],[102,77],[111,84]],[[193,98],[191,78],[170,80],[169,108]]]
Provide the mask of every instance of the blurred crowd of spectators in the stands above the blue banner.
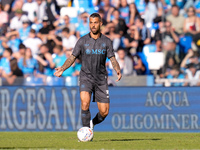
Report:
[[[0,76],[10,84],[16,77],[53,76],[89,33],[93,12],[103,19],[101,31],[124,76],[152,74],[146,49],[164,56],[155,77],[188,79],[171,86],[200,85],[200,0],[0,0]],[[79,76],[80,69],[81,58],[63,77]]]

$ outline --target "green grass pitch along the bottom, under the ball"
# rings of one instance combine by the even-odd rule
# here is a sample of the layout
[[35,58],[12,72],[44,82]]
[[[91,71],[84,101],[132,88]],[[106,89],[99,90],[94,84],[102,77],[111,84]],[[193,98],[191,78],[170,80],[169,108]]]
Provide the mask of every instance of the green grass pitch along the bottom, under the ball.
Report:
[[0,132],[0,149],[200,149],[200,133],[94,132],[78,142],[76,132]]

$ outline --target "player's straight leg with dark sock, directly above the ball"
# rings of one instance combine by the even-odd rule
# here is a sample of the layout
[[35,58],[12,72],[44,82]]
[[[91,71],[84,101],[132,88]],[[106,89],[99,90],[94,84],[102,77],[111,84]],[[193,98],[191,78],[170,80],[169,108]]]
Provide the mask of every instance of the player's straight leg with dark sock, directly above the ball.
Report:
[[91,100],[91,94],[86,91],[80,92],[80,98],[81,98],[81,120],[84,127],[90,127],[90,100]]

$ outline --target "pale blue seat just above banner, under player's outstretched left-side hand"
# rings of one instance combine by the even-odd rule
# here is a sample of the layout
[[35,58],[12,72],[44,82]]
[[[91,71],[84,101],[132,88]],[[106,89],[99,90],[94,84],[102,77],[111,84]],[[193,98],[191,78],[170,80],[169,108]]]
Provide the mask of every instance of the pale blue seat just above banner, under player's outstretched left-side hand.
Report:
[[46,85],[49,86],[63,86],[64,84],[64,78],[58,78],[58,77],[47,77],[46,79]]

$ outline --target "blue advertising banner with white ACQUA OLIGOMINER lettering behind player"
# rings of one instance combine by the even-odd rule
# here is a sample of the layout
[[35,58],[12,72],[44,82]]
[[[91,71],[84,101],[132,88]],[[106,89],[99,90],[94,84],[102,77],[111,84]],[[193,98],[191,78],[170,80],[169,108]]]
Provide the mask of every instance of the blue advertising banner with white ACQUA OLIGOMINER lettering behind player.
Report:
[[[110,87],[109,115],[95,131],[199,132],[199,87]],[[77,131],[78,87],[0,87],[0,131]],[[91,115],[98,112],[91,102]]]

